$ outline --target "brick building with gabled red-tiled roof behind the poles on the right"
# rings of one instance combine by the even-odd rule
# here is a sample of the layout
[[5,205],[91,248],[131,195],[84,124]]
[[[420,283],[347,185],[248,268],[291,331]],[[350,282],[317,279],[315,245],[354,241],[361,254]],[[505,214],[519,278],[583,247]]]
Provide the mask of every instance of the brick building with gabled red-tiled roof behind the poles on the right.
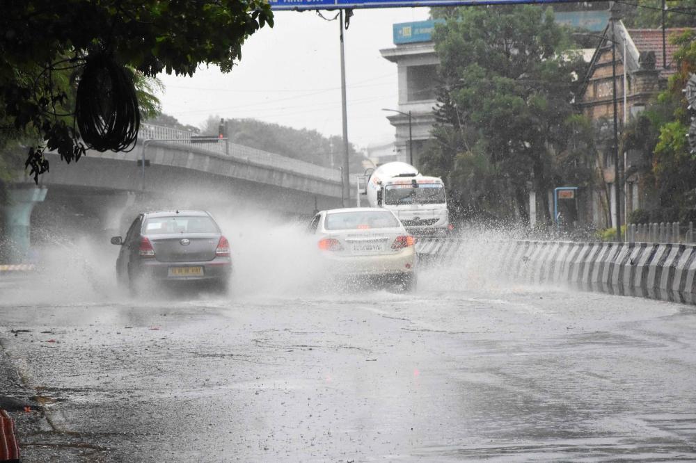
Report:
[[[667,29],[665,37],[686,29]],[[591,192],[589,217],[597,227],[613,227],[615,220],[615,165],[613,159],[612,43],[615,45],[617,122],[619,134],[632,117],[638,115],[665,88],[667,77],[675,72],[673,57],[677,47],[668,40],[663,54],[661,29],[626,29],[623,22],[608,24],[602,35],[605,40],[594,51],[578,106],[599,129],[597,163],[601,172],[599,186]],[[619,167],[624,168],[622,185],[622,223],[631,211],[651,206],[653,198],[640,188],[641,172],[649,168],[649,153],[629,150],[619,154]]]

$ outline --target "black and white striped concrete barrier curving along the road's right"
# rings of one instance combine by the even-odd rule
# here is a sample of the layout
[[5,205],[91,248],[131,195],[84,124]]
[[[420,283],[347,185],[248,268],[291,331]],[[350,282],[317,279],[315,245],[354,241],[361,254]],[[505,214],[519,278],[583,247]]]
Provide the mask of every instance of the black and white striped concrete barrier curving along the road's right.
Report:
[[696,304],[696,245],[419,238],[431,264],[480,259],[496,277]]

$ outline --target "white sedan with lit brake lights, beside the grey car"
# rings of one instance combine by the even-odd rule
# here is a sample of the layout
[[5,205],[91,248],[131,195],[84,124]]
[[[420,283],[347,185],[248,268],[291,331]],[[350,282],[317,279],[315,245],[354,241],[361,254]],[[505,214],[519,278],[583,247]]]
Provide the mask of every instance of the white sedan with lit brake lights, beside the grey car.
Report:
[[321,211],[309,231],[334,277],[395,282],[405,291],[416,288],[415,239],[391,211],[372,207]]

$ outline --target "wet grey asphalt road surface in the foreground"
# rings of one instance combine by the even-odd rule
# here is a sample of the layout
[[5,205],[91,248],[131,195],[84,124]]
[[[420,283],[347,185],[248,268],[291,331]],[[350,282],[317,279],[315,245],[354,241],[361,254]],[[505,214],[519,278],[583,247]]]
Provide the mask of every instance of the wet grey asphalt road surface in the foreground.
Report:
[[695,307],[455,281],[0,302],[24,461],[696,460]]

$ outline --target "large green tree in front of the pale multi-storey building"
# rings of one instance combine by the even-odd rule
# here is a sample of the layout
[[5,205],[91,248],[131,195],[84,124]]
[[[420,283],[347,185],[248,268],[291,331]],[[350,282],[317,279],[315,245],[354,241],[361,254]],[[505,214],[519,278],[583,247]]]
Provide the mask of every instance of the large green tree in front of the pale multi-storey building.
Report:
[[[569,31],[551,9],[455,8],[444,16],[434,36],[441,62],[435,143],[424,166],[450,177],[460,205],[487,209],[491,198],[508,197],[527,219],[528,182],[545,191],[564,178],[553,172],[553,158],[571,152],[585,63],[567,52]],[[551,220],[548,198],[540,197]]]

